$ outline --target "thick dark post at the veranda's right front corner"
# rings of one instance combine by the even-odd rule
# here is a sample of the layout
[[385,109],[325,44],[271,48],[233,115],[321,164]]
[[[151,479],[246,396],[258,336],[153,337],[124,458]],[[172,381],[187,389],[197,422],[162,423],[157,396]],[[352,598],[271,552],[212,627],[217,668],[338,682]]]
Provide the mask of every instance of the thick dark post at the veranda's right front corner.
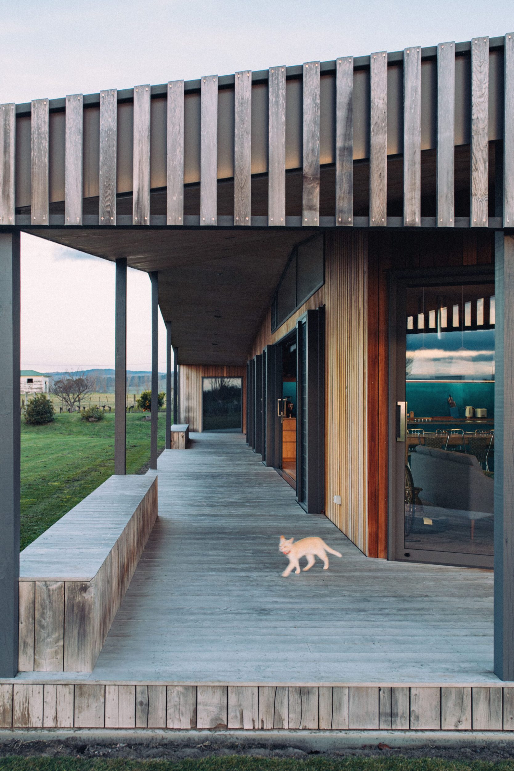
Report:
[[494,672],[514,680],[514,236],[495,238]]

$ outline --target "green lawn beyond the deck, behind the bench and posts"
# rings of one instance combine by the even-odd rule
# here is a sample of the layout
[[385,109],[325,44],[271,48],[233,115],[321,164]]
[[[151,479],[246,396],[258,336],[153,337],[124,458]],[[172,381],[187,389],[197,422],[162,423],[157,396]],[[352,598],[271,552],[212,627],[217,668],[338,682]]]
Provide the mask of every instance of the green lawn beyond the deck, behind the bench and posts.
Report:
[[[159,413],[159,449],[165,443],[165,413]],[[127,415],[127,473],[150,459],[150,421]],[[46,426],[22,419],[21,548],[48,529],[114,473],[114,412],[99,423],[77,413],[56,415]],[[2,768],[0,760],[0,768]]]

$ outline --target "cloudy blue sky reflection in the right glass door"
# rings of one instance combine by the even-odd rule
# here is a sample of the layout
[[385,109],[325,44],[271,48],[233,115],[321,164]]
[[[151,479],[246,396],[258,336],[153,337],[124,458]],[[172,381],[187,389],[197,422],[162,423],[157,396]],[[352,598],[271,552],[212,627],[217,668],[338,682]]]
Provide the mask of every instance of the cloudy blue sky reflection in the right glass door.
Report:
[[407,335],[407,379],[494,379],[494,330]]

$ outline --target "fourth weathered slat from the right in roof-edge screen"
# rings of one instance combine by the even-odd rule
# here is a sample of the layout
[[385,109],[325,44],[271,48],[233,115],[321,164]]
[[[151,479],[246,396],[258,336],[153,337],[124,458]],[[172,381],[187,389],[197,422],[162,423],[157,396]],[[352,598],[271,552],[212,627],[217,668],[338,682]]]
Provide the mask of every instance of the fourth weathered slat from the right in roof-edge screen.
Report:
[[421,48],[403,52],[403,224],[421,226]]

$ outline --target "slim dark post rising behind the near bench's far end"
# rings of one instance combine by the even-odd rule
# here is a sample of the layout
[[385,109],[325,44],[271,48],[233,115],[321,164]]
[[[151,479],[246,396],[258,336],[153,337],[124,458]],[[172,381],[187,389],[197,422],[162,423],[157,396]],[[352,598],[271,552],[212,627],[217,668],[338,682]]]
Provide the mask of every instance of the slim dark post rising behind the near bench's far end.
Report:
[[127,261],[116,260],[114,473],[125,474],[127,439]]

